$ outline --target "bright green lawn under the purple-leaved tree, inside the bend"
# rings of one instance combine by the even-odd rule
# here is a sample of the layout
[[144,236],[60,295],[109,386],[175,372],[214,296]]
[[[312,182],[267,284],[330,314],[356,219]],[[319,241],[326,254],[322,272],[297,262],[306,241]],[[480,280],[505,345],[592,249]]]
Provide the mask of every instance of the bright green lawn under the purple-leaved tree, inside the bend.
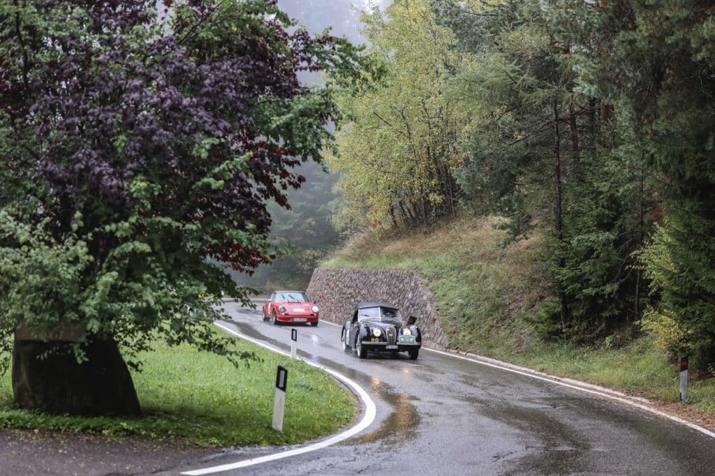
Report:
[[[238,368],[191,347],[157,344],[133,372],[142,417],[70,417],[16,410],[9,375],[0,378],[0,427],[104,435],[147,435],[201,446],[285,445],[328,435],[352,422],[352,395],[321,370],[237,339],[262,362]],[[277,365],[288,370],[283,432],[272,430]]]

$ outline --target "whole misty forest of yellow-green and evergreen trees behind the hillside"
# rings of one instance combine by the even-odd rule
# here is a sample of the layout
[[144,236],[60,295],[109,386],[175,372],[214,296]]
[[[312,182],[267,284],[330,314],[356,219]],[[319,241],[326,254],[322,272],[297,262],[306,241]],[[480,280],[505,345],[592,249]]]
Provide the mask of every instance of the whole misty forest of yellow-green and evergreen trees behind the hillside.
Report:
[[[336,2],[284,3],[309,29],[319,21],[310,11],[345,14]],[[305,252],[248,284],[300,286],[340,233],[501,217],[503,247],[546,241],[547,291],[526,317],[540,337],[626,344],[649,331],[671,355],[712,370],[715,7],[383,7],[334,29],[366,41],[384,74],[342,97],[349,122],[325,151],[332,174],[310,165],[294,212],[274,215],[276,236]]]

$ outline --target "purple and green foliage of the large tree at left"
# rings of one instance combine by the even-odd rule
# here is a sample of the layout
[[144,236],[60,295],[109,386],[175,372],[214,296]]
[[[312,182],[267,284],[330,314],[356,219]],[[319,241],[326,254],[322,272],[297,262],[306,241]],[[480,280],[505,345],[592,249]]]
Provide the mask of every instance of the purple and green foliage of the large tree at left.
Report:
[[[273,0],[2,2],[5,334],[65,316],[133,349],[154,329],[225,352],[210,304],[246,293],[206,258],[272,260],[265,204],[289,207],[292,167],[330,143],[332,87],[358,53]],[[332,82],[307,89],[299,71]]]

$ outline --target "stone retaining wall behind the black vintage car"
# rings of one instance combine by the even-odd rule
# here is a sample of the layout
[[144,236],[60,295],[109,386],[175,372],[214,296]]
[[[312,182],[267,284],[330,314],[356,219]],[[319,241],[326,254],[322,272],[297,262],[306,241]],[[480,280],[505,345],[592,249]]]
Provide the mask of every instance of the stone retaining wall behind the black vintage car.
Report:
[[432,292],[408,269],[316,268],[307,295],[317,301],[320,319],[342,324],[361,301],[384,301],[398,306],[403,319],[417,317],[423,344],[446,349],[449,341],[440,324]]

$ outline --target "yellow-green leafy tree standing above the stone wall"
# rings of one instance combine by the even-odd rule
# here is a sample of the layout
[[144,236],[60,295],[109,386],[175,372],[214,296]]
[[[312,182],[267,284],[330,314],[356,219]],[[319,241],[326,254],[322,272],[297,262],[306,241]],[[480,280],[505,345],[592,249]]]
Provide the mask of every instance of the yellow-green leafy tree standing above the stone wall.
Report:
[[341,174],[342,222],[400,228],[453,215],[462,123],[444,94],[459,56],[450,32],[424,0],[393,1],[363,21],[369,54],[384,74],[340,99],[348,122],[327,160]]

